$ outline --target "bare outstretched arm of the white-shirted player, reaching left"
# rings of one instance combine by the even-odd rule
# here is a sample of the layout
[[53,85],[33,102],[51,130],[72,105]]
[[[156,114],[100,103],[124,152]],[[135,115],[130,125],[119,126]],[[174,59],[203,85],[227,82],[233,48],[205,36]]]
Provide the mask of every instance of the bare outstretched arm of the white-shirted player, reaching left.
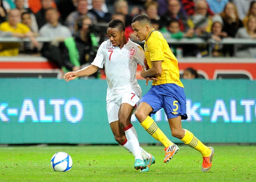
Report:
[[83,69],[79,69],[78,71],[70,71],[64,75],[65,81],[70,81],[76,79],[77,77],[85,77],[96,73],[99,67],[90,65]]

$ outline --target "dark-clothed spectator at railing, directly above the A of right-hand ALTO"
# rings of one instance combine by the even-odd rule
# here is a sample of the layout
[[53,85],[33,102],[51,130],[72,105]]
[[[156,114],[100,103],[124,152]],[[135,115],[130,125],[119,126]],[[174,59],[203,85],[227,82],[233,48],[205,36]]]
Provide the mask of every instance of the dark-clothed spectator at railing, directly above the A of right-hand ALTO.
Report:
[[220,57],[223,56],[223,44],[221,44],[221,40],[224,37],[227,37],[226,32],[222,32],[222,22],[216,21],[212,24],[212,38],[216,41],[212,43],[212,56],[213,57]]

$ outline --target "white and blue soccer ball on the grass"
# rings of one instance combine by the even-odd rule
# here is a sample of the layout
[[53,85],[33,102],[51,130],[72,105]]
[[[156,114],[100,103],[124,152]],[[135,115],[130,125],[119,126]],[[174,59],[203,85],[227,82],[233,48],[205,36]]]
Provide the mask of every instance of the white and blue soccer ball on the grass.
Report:
[[72,158],[66,152],[57,152],[52,156],[51,166],[53,170],[59,172],[66,172],[72,168]]

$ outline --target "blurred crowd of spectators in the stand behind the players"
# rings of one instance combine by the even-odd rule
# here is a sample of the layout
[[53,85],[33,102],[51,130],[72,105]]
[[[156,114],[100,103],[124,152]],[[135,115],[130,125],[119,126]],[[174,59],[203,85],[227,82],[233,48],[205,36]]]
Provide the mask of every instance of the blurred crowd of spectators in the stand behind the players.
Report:
[[[76,71],[92,62],[112,19],[136,41],[132,18],[147,14],[167,40],[201,38],[213,44],[170,45],[177,56],[256,57],[256,44],[222,44],[223,38],[256,40],[255,0],[0,0],[0,56],[40,53],[58,67]],[[48,38],[50,41],[39,41]],[[209,47],[210,46],[210,47]],[[180,55],[180,50],[181,54]]]

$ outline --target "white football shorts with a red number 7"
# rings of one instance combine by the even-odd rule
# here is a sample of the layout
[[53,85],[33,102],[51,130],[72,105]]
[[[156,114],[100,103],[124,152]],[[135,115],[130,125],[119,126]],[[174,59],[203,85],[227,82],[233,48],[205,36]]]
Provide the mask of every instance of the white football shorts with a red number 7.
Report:
[[136,93],[124,93],[120,97],[109,101],[107,103],[108,123],[118,121],[118,111],[122,103],[128,103],[131,106],[135,106],[140,101],[140,97]]

